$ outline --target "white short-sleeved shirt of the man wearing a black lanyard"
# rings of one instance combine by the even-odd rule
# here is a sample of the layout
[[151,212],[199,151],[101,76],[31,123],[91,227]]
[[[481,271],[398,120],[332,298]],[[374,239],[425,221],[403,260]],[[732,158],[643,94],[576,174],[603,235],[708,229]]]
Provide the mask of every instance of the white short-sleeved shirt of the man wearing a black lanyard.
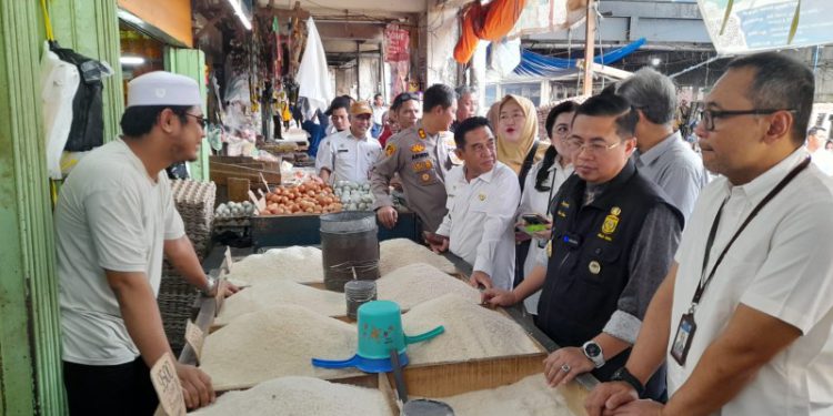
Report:
[[[676,253],[680,268],[674,285],[672,338],[700,282],[706,240],[721,203],[729,199],[709,270],[752,209],[806,156],[806,150],[799,149],[745,185],[731,186],[725,177],[719,177],[700,194]],[[726,253],[696,308],[697,329],[685,366],[668,356],[669,394],[691,376],[703,352],[742,303],[795,326],[803,335],[766,363],[715,415],[813,414],[812,384],[833,377],[833,361],[815,359],[833,326],[831,212],[833,181],[811,164],[752,220]]]

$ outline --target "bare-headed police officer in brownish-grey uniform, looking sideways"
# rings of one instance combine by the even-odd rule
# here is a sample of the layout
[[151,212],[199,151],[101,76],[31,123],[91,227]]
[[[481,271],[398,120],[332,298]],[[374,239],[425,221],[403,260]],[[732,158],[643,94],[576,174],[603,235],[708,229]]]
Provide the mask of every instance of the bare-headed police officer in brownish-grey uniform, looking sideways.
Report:
[[370,174],[373,207],[389,229],[397,224],[389,187],[394,173],[399,173],[408,206],[416,213],[423,230],[435,231],[448,212],[445,173],[459,164],[453,155],[454,135],[448,131],[456,112],[454,90],[444,84],[431,85],[423,95],[422,112],[422,121],[388,140]]

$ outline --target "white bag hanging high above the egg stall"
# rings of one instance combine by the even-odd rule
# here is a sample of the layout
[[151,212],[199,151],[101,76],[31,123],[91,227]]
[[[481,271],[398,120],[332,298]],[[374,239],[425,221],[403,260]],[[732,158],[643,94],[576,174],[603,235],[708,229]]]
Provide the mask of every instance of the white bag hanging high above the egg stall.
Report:
[[315,22],[310,17],[307,20],[307,49],[303,51],[301,64],[298,68],[298,97],[307,98],[310,106],[304,116],[312,119],[315,110],[327,110],[333,98],[330,88],[330,74],[327,68],[327,55],[318,34]]

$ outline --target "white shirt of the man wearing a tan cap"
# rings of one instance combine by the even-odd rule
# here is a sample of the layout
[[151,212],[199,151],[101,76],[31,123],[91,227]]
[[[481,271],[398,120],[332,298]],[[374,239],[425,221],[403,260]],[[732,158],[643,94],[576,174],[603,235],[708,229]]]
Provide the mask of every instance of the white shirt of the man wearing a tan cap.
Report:
[[373,168],[373,163],[379,160],[381,154],[382,145],[369,133],[365,134],[365,138],[359,139],[350,132],[350,129],[347,129],[329,135],[321,142],[319,148],[321,163],[317,168],[319,172],[322,169],[331,172],[331,184],[335,181],[368,183],[370,182],[370,169]]

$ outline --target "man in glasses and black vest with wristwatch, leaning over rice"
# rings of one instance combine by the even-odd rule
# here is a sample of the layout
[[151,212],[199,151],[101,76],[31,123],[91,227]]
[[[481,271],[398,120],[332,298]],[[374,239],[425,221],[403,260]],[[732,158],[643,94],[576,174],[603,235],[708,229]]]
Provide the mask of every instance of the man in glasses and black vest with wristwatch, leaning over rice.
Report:
[[[668,273],[683,217],[629,160],[636,111],[614,94],[589,99],[568,139],[575,174],[553,200],[552,240],[512,292],[483,300],[511,305],[543,287],[535,324],[561,349],[544,362],[555,386],[593,372],[609,381],[628,359],[649,302]],[[662,398],[664,372],[646,397]]]

